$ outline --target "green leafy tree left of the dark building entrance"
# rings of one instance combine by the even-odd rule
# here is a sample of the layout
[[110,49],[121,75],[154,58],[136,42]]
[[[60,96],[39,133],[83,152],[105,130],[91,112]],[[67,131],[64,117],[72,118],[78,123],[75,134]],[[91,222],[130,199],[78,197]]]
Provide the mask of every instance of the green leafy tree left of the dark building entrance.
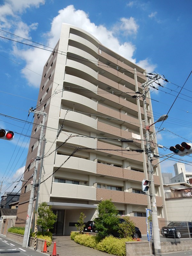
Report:
[[39,204],[37,225],[42,228],[42,235],[44,233],[44,229],[47,230],[49,228],[53,228],[53,224],[56,220],[57,215],[52,212],[51,205],[48,206],[45,202]]

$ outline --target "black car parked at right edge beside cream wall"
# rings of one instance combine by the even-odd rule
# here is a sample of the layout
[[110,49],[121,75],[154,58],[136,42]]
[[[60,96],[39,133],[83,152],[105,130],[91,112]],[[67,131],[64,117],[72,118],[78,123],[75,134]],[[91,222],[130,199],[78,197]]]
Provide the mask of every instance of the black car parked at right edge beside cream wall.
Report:
[[172,221],[167,226],[161,229],[161,233],[163,236],[174,236],[176,238],[181,238],[183,236],[192,236],[192,222],[189,221]]

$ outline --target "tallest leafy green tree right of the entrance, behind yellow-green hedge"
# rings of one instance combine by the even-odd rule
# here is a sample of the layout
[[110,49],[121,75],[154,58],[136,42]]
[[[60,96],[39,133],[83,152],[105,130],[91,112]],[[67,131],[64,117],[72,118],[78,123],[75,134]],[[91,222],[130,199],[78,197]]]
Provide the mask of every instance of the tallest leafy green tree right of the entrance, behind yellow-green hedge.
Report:
[[101,201],[97,206],[98,218],[95,219],[95,229],[102,239],[108,236],[108,230],[117,230],[119,218],[118,210],[110,200]]

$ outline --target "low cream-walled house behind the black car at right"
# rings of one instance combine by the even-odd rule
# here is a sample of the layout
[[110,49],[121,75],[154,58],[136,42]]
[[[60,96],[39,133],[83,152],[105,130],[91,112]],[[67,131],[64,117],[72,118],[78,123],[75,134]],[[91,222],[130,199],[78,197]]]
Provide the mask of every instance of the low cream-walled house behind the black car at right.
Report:
[[164,184],[168,221],[192,221],[192,185],[187,182]]

